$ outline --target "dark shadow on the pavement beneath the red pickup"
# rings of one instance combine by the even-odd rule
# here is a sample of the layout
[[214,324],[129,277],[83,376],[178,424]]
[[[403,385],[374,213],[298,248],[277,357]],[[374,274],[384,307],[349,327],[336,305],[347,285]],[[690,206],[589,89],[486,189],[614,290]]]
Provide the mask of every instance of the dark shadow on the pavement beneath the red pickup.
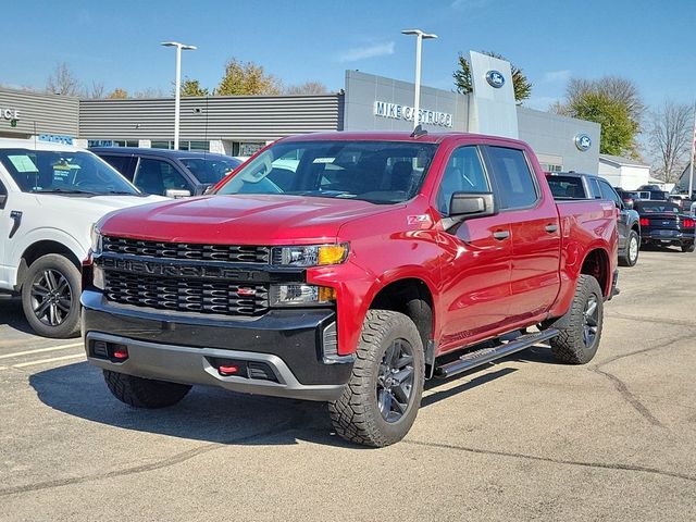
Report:
[[[422,406],[428,407],[513,371],[502,369],[468,380],[460,386],[425,397]],[[451,383],[457,378],[452,377],[447,382]],[[427,388],[436,391],[438,383],[442,382],[428,382]],[[360,448],[332,435],[328,412],[322,402],[194,386],[176,406],[140,410],[115,399],[103,382],[101,370],[86,362],[33,374],[29,376],[29,384],[41,402],[50,408],[123,430],[231,445],[289,445],[307,440]]]

